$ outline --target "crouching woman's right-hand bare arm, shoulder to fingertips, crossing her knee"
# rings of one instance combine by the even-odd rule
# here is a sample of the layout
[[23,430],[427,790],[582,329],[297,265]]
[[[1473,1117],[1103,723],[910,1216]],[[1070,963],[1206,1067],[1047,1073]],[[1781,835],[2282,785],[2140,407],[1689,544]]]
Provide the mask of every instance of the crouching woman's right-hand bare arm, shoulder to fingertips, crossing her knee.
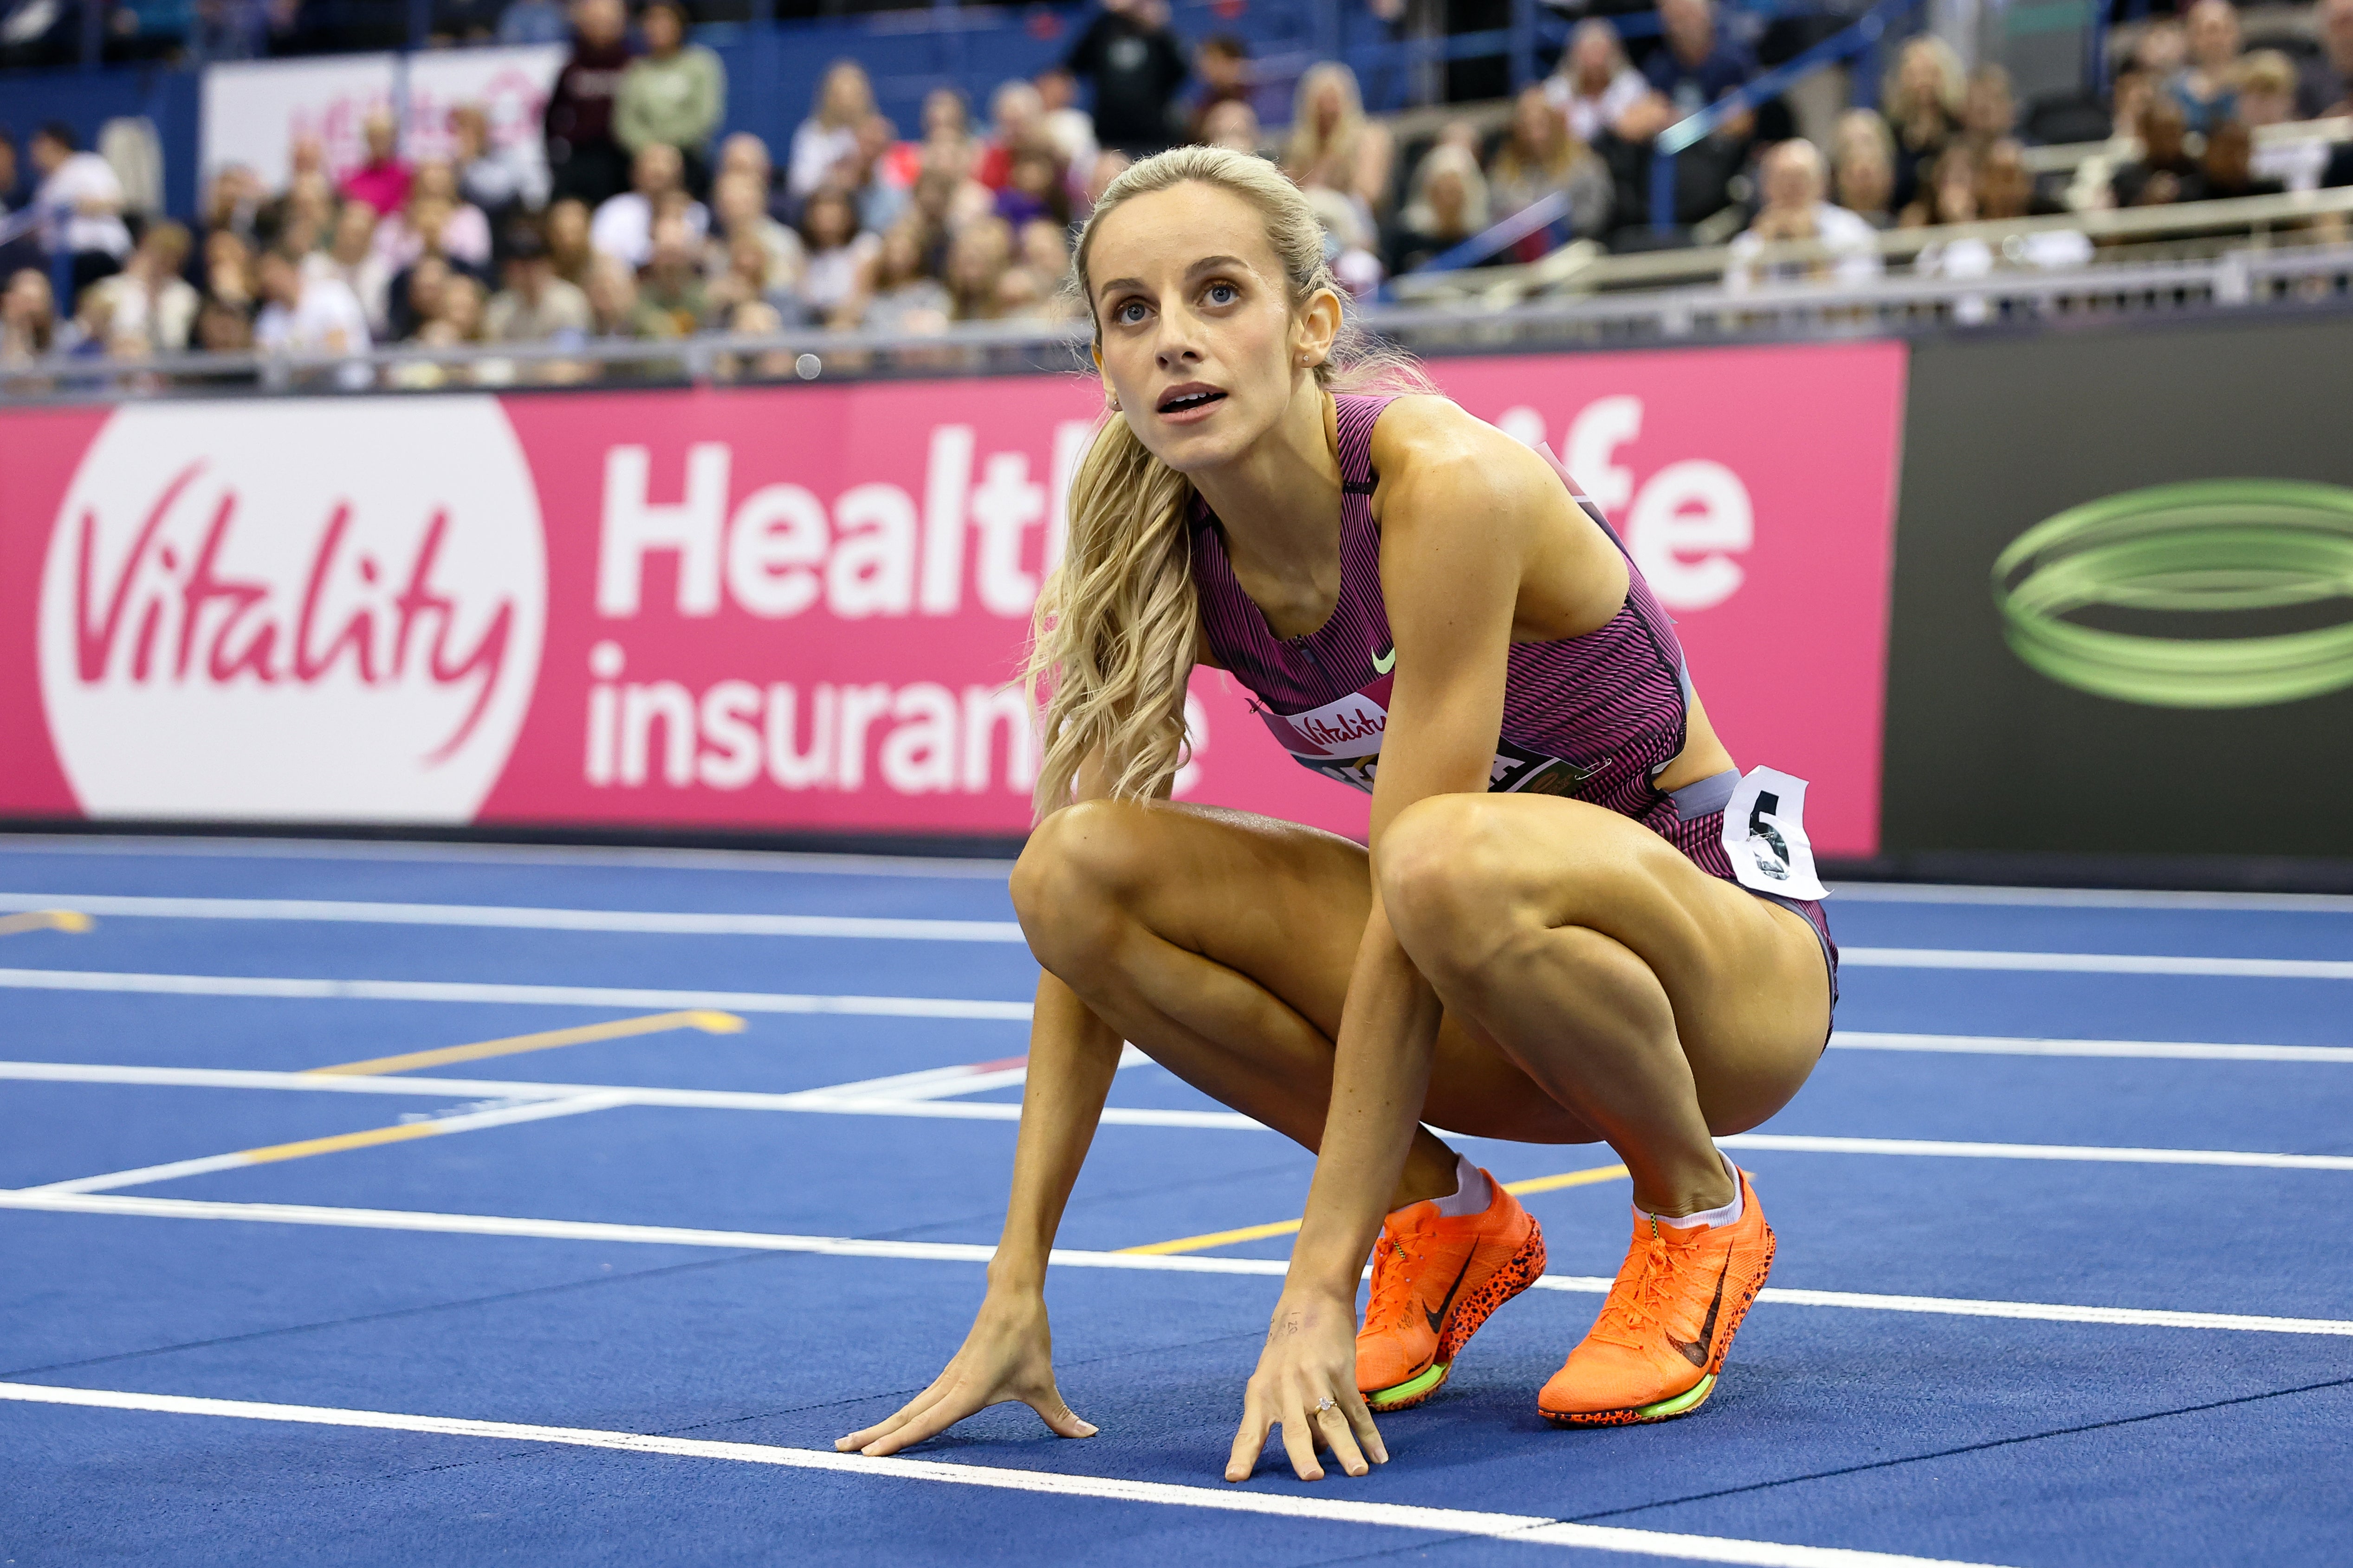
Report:
[[[1351,1474],[1365,1472],[1362,1453],[1386,1458],[1355,1389],[1355,1288],[1428,1091],[1440,1004],[1381,905],[1384,835],[1419,799],[1487,790],[1520,585],[1572,508],[1541,456],[1438,400],[1391,404],[1374,465],[1398,665],[1372,792],[1372,917],[1348,978],[1306,1220],[1228,1481],[1252,1472],[1271,1422],[1282,1422],[1292,1467],[1311,1481],[1322,1474],[1318,1441]],[[1337,1410],[1318,1425],[1325,1396]]]

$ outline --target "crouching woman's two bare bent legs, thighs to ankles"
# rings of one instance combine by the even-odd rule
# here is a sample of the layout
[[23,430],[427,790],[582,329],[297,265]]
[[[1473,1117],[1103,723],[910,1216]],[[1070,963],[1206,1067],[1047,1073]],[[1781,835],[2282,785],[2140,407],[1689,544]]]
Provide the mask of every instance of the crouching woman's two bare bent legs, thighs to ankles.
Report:
[[[1478,818],[1457,856],[1447,835],[1459,825],[1440,809],[1485,799],[1560,811]],[[1414,835],[1395,839],[1417,813]],[[1527,889],[1560,882],[1581,896],[1544,905],[1492,860]],[[1577,802],[1438,797],[1391,827],[1384,865],[1391,924],[1447,1001],[1426,1121],[1520,1143],[1609,1140],[1638,1199],[1666,1213],[1729,1201],[1708,1133],[1779,1110],[1828,1027],[1805,922]],[[1362,846],[1238,811],[1085,802],[1031,837],[1014,907],[1040,964],[1104,1023],[1202,1093],[1318,1147],[1372,907]],[[1551,917],[1544,945],[1532,922]],[[1515,933],[1541,961],[1504,940]],[[1807,1030],[1809,1048],[1791,1048]],[[1452,1190],[1452,1157],[1419,1131],[1391,1208]]]

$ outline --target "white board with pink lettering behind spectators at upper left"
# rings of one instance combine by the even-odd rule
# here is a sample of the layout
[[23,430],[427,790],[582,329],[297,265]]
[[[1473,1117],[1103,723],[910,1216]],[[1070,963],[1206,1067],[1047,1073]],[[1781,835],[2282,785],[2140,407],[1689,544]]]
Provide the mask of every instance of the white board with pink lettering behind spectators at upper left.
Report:
[[402,108],[402,155],[449,153],[449,110],[480,103],[499,146],[541,155],[541,115],[562,71],[560,45],[435,49],[428,54],[341,54],[209,66],[205,71],[202,169],[209,181],[245,165],[278,190],[294,143],[318,136],[327,172],[344,179],[367,158],[362,125],[379,108]]

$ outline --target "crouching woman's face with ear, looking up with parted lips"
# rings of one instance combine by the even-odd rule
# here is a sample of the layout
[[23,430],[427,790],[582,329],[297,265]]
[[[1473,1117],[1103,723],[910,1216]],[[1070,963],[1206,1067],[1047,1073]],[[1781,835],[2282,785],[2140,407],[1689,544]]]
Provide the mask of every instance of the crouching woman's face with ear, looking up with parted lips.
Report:
[[1257,207],[1202,183],[1106,214],[1087,289],[1106,390],[1176,473],[1231,463],[1273,430],[1313,390],[1339,327],[1329,294],[1292,306]]

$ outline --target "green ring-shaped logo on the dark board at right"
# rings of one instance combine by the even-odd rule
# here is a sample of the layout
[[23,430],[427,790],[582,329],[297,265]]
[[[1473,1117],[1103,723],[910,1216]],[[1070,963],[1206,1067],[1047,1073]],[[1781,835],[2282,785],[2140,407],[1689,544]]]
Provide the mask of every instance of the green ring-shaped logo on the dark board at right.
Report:
[[[2275,637],[2148,637],[2082,609],[2259,611],[2346,599]],[[2148,708],[2266,708],[2353,686],[2353,489],[2294,480],[2153,484],[2068,508],[1993,562],[2009,649],[2049,679]]]

